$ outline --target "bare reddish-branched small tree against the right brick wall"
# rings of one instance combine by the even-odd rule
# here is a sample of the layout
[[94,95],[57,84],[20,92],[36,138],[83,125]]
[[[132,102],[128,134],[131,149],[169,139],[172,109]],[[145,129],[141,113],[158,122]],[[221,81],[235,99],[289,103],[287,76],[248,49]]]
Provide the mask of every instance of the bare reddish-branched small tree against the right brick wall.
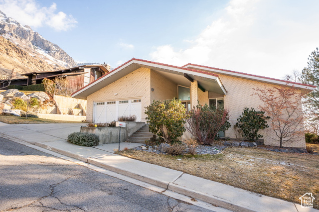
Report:
[[270,128],[274,130],[283,143],[294,142],[296,136],[304,134],[303,127],[303,94],[294,87],[256,88],[258,95],[264,105],[259,108],[270,116]]

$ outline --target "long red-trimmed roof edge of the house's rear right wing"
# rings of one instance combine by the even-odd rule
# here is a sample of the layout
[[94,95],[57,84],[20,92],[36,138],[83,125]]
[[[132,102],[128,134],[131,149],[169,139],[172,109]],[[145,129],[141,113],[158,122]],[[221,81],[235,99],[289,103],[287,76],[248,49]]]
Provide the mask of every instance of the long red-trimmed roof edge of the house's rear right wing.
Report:
[[199,69],[199,70],[203,70],[203,71],[209,71],[209,72],[214,72],[214,73],[218,73],[218,74],[228,75],[228,76],[232,76],[232,77],[239,77],[239,78],[244,78],[244,79],[254,80],[254,81],[259,81],[259,82],[265,82],[265,83],[271,83],[271,84],[277,84],[277,85],[295,86],[296,88],[308,89],[311,91],[315,90],[315,88],[316,88],[316,86],[313,86],[313,85],[296,83],[296,82],[291,82],[291,81],[286,81],[286,80],[279,80],[279,79],[275,79],[275,78],[263,77],[263,76],[254,75],[254,74],[246,74],[246,73],[230,71],[230,70],[226,70],[226,69],[213,68],[213,67],[209,67],[209,66],[202,66],[202,65],[192,64],[192,63],[188,63],[182,67]]

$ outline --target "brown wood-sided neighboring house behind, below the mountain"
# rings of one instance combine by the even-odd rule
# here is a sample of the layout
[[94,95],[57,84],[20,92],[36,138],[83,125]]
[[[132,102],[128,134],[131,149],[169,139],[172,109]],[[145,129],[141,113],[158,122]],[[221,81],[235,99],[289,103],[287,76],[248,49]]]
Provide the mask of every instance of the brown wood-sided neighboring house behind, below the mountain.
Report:
[[83,65],[59,71],[29,72],[21,74],[27,77],[27,85],[41,84],[44,78],[54,80],[56,77],[67,80],[67,89],[72,93],[95,81],[110,71],[108,64]]

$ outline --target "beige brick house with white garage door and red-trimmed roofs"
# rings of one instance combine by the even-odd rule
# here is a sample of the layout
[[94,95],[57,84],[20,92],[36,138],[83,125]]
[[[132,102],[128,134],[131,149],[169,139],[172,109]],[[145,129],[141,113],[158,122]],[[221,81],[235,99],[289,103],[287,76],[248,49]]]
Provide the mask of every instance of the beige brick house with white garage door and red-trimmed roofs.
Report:
[[[178,98],[187,110],[200,105],[223,106],[230,111],[232,127],[220,136],[235,138],[233,125],[244,107],[262,104],[254,88],[295,86],[309,93],[315,86],[244,74],[206,66],[171,66],[133,58],[101,78],[74,92],[72,97],[87,100],[88,122],[109,122],[118,116],[135,114],[146,121],[145,107],[154,100]],[[266,145],[279,145],[271,129],[261,130]],[[267,136],[265,136],[267,134]],[[183,138],[189,138],[184,133]],[[305,138],[286,146],[305,147]]]

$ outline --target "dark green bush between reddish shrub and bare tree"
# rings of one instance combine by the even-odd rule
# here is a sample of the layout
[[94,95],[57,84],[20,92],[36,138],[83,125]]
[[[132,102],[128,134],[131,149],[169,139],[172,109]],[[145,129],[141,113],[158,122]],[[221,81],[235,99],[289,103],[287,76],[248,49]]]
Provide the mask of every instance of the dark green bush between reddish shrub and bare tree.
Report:
[[254,108],[245,107],[242,115],[237,118],[236,127],[241,129],[243,136],[251,141],[254,141],[255,138],[262,138],[263,136],[258,134],[258,131],[269,127],[265,119],[270,118],[264,114],[264,111],[255,111]]

